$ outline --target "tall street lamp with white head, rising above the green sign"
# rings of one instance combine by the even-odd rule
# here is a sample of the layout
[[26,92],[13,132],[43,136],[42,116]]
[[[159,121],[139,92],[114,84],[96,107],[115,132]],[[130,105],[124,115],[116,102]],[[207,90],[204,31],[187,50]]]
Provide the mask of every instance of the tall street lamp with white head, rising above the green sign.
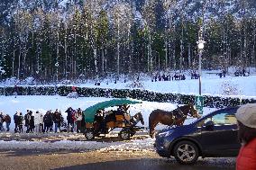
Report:
[[202,53],[203,53],[203,49],[204,49],[204,44],[205,44],[205,40],[203,40],[203,30],[202,27],[200,28],[200,32],[199,32],[199,40],[197,41],[197,47],[199,49],[199,67],[198,67],[198,72],[199,72],[199,95],[202,94],[202,82],[201,82],[201,76],[202,76]]

